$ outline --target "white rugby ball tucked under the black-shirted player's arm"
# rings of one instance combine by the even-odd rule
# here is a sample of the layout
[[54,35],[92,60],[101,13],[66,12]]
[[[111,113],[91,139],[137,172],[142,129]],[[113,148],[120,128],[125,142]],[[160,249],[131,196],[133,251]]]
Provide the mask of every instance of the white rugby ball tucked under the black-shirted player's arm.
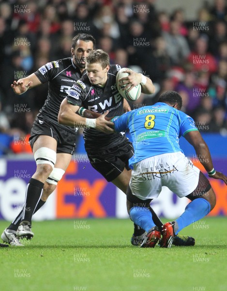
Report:
[[[128,101],[136,101],[139,98],[140,93],[141,93],[141,85],[138,84],[137,86],[135,86],[134,88],[132,88],[131,90],[128,91],[128,90],[122,90],[122,84],[121,84],[121,82],[119,82],[119,80],[121,78],[127,77],[129,75],[128,73],[124,72],[126,69],[131,70],[129,68],[122,68],[117,73],[116,84],[117,84],[118,92],[126,100],[128,100]],[[124,87],[125,86],[126,85],[124,85]]]

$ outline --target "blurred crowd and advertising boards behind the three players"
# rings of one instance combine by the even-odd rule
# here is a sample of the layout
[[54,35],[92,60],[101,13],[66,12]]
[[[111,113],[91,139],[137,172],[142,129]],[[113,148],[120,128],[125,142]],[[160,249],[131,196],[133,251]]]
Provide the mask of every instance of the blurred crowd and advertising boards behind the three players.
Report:
[[[111,63],[130,66],[151,78],[152,97],[131,107],[153,104],[165,90],[183,98],[195,118],[218,171],[227,174],[227,4],[225,0],[0,1],[0,219],[12,220],[23,205],[35,171],[28,144],[47,84],[21,96],[10,88],[45,63],[68,57],[78,32],[91,33]],[[186,156],[202,171],[194,149],[182,138]],[[203,157],[200,157],[202,159]],[[210,215],[227,215],[227,187],[210,179],[217,205]],[[175,218],[187,199],[164,189],[153,208]],[[125,195],[91,167],[78,134],[72,162],[57,190],[34,220],[127,217]]]

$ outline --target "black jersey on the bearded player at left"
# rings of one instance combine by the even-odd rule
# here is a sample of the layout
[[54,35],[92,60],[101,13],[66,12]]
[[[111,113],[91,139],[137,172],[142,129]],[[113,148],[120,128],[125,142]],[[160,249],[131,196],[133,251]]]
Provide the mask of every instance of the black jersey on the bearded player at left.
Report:
[[[86,74],[86,71],[83,73]],[[73,83],[82,77],[80,70],[73,64],[73,58],[65,58],[47,63],[35,75],[42,83],[48,83],[48,95],[38,117],[51,121],[70,132],[75,129],[58,123],[58,113],[62,100],[68,95]]]

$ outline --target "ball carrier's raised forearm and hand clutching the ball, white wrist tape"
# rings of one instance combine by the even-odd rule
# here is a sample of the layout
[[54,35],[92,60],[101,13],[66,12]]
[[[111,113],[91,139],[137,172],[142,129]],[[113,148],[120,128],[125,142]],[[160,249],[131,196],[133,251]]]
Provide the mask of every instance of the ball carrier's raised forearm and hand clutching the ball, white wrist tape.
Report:
[[127,84],[127,86],[124,87],[124,90],[131,90],[138,84],[141,85],[141,92],[144,94],[153,94],[155,93],[155,87],[148,77],[144,76],[143,74],[136,73],[133,70],[125,70],[125,73],[128,73],[129,75],[127,77],[119,79],[121,82],[121,85]]

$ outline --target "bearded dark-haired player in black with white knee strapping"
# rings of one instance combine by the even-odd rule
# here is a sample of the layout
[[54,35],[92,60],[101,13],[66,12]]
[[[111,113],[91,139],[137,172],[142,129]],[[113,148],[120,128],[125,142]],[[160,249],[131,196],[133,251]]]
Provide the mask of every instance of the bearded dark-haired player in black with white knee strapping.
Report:
[[72,57],[47,63],[30,76],[14,81],[11,85],[14,92],[20,95],[29,88],[48,82],[48,95],[30,134],[36,172],[28,183],[23,209],[1,235],[4,242],[20,246],[22,244],[17,236],[33,237],[31,217],[44,205],[71,161],[76,131],[58,123],[58,112],[61,101],[67,96],[72,84],[84,74],[85,57],[94,48],[93,36],[77,34],[72,41]]

